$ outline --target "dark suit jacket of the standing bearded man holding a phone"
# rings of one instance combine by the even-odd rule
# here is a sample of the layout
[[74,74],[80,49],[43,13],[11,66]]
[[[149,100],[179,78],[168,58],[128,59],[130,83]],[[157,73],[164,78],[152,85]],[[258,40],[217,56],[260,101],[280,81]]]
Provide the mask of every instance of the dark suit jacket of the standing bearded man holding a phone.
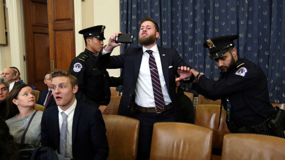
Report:
[[[167,86],[167,91],[170,95],[172,103],[174,103],[178,121],[181,119],[182,112],[176,105],[175,98],[175,75],[177,68],[181,66],[188,66],[179,56],[175,49],[158,47],[160,60],[162,65],[162,72]],[[119,114],[124,116],[132,116],[131,106],[140,64],[143,57],[143,48],[128,48],[123,54],[118,56],[109,56],[111,53],[99,55],[96,64],[100,67],[109,69],[123,68],[123,86],[124,91],[120,101]]]

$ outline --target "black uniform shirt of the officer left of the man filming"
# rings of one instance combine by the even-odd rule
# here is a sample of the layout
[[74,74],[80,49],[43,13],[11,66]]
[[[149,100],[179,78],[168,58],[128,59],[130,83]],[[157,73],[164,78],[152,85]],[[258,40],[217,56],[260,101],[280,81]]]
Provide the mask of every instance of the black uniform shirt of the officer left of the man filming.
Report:
[[78,90],[99,105],[107,105],[110,102],[109,75],[106,70],[100,70],[95,65],[97,56],[88,49],[74,58],[69,71],[78,81]]

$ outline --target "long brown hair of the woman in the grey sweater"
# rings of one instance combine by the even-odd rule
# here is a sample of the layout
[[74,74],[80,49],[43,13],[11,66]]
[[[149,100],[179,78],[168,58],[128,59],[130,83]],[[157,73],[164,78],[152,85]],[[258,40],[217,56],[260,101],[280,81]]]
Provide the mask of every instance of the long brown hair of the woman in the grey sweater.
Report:
[[13,89],[11,90],[11,92],[9,93],[8,98],[7,98],[7,116],[6,116],[6,119],[9,119],[9,118],[15,116],[16,114],[20,113],[17,105],[14,104],[12,101],[13,101],[13,99],[18,99],[19,92],[24,87],[30,87],[30,86],[28,86],[26,84],[19,84],[19,85],[14,86]]

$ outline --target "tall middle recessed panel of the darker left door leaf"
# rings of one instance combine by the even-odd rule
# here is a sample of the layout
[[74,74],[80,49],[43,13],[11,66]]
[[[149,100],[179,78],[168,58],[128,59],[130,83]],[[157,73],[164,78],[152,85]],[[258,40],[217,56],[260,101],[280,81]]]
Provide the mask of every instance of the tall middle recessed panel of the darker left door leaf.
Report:
[[42,83],[44,74],[50,71],[49,66],[49,34],[34,33],[34,68],[35,83]]

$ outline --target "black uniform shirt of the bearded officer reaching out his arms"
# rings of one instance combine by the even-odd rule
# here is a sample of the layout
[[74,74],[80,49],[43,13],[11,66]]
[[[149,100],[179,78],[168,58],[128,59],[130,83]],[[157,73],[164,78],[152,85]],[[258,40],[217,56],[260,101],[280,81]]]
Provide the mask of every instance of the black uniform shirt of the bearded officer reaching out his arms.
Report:
[[230,119],[236,126],[252,126],[263,122],[272,112],[267,78],[262,69],[247,59],[239,59],[230,73],[222,73],[218,81],[205,75],[199,77],[192,89],[210,99],[221,99],[226,109],[229,99]]

